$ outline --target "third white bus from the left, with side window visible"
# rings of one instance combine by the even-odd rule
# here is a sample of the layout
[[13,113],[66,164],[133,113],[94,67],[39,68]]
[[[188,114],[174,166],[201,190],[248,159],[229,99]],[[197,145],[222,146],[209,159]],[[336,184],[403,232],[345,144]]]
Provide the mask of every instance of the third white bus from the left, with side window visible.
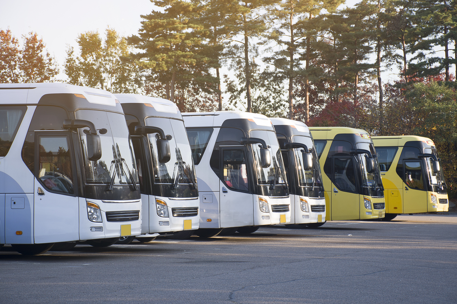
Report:
[[281,149],[270,119],[220,111],[183,113],[200,196],[200,237],[290,222]]

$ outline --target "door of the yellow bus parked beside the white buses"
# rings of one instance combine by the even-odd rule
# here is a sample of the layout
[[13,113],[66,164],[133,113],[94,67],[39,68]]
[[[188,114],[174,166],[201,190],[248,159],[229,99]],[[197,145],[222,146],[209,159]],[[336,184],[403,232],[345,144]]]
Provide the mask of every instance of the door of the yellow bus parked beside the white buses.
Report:
[[355,164],[352,156],[332,157],[332,220],[360,219]]

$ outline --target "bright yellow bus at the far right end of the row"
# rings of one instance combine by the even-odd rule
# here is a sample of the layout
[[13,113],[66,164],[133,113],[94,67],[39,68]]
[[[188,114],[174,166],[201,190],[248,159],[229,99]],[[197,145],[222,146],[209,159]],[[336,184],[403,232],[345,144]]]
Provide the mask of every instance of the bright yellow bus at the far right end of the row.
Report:
[[386,188],[386,216],[448,211],[447,188],[433,141],[420,136],[373,136]]

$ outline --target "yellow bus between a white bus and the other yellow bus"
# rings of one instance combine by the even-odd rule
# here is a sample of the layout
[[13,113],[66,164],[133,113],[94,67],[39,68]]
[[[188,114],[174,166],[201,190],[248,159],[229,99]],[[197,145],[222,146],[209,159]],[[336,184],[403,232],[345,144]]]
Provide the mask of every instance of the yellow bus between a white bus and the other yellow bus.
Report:
[[346,127],[309,127],[309,130],[324,172],[325,220],[383,218],[383,182],[367,131]]

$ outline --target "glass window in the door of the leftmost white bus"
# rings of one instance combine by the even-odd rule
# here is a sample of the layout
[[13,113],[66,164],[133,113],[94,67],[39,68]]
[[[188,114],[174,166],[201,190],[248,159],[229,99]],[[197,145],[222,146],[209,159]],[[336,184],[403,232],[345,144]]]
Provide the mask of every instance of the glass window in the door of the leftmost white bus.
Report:
[[73,194],[73,166],[67,136],[38,135],[37,178],[50,191]]

